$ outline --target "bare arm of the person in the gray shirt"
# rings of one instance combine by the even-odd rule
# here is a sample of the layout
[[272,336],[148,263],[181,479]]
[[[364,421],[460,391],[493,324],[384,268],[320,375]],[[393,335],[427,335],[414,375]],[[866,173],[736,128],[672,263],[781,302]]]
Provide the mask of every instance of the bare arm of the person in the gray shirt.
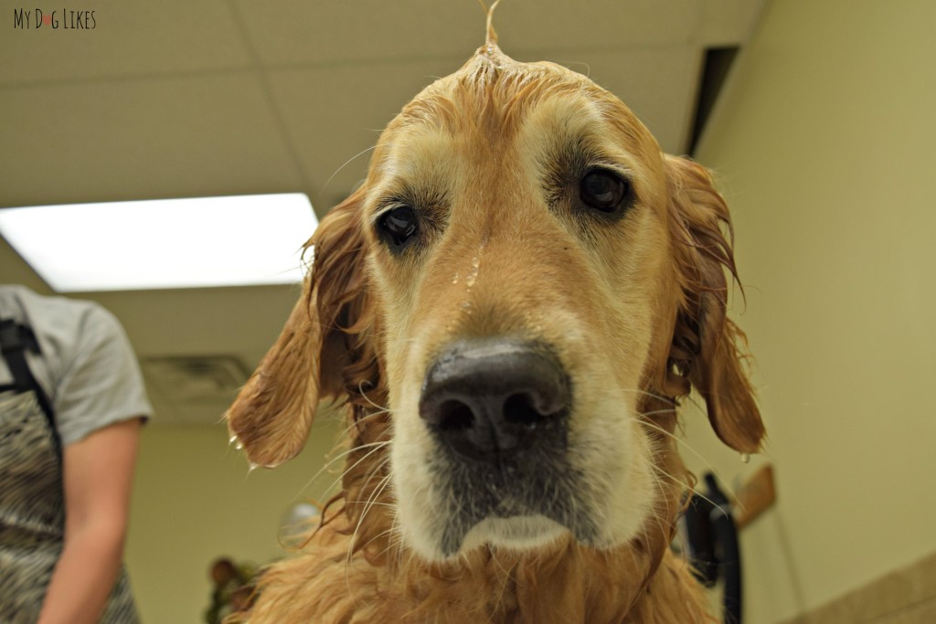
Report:
[[124,554],[139,418],[98,429],[63,449],[65,547],[39,624],[94,624]]

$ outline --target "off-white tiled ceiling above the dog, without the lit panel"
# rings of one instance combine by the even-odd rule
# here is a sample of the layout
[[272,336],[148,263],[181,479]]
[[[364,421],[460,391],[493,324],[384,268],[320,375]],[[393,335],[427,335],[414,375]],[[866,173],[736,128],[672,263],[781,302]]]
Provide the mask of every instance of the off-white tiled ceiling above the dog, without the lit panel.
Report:
[[[58,29],[18,30],[24,4],[36,3],[0,0],[0,208],[300,191],[322,215],[363,177],[367,154],[354,157],[485,30],[475,0],[91,0],[93,30],[62,28],[62,8]],[[742,45],[765,4],[504,0],[494,23],[507,54],[589,74],[666,151],[684,152],[704,51]],[[2,240],[0,283],[48,292]],[[143,359],[233,355],[253,367],[296,293],[83,297],[121,318]],[[224,409],[152,393],[162,422]]]

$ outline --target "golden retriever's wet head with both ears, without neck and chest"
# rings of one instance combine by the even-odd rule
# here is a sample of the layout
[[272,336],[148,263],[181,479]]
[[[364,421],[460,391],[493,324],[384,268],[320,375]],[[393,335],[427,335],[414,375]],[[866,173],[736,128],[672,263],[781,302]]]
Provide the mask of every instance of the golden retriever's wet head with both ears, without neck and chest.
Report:
[[358,430],[386,407],[399,530],[426,559],[565,531],[624,544],[672,497],[692,386],[724,443],[763,436],[725,315],[728,227],[709,174],[616,97],[485,47],[402,110],[323,220],[231,431],[274,465],[319,399],[350,399]]

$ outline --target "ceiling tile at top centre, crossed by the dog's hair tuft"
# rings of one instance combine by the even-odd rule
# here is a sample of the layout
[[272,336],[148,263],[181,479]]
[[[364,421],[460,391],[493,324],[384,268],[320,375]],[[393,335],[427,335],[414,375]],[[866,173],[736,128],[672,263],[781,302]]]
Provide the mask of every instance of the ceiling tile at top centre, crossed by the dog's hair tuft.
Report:
[[[340,65],[466,56],[485,42],[485,14],[471,0],[234,0],[265,65]],[[500,45],[601,50],[693,39],[701,0],[508,0],[494,14]]]

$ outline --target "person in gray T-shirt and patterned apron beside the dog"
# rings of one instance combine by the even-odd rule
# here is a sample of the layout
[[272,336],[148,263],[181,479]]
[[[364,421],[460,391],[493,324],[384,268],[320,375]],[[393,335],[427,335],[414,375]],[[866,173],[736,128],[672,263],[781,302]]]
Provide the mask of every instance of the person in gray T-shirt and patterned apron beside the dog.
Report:
[[152,413],[117,319],[0,284],[0,621],[139,621],[123,566]]

